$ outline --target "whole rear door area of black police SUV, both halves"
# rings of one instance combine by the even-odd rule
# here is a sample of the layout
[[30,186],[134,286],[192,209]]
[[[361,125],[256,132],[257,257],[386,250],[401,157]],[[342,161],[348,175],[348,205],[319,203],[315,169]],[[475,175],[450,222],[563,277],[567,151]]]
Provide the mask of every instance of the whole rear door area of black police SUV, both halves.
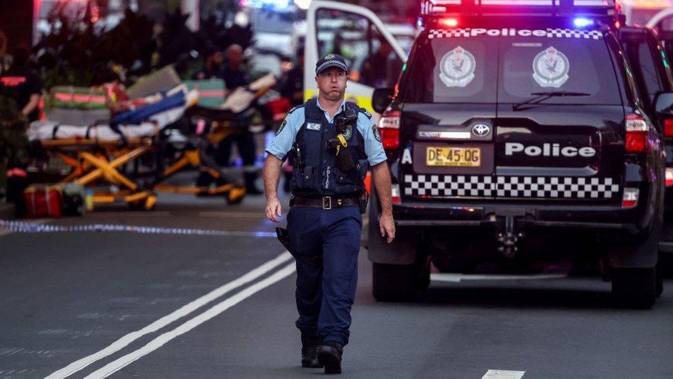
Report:
[[401,82],[403,198],[619,204],[628,85],[612,33],[460,17],[425,31]]

